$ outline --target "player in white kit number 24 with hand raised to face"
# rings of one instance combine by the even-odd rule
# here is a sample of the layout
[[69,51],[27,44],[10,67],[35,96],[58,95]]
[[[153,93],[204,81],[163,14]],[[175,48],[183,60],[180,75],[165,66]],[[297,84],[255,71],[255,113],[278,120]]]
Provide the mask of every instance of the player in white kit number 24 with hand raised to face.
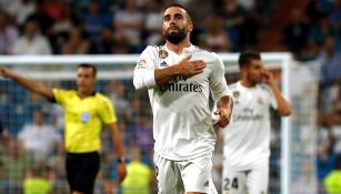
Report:
[[229,85],[234,108],[223,134],[222,194],[267,194],[270,157],[270,106],[280,115],[291,108],[262,65],[259,52],[239,57],[241,80]]

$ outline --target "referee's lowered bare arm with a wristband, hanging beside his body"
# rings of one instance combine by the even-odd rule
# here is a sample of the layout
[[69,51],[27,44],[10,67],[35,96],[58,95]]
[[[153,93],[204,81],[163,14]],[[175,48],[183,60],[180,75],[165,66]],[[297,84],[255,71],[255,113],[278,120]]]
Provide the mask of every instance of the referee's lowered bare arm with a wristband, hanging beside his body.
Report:
[[107,124],[108,130],[110,131],[111,134],[111,140],[116,150],[116,153],[118,155],[118,177],[119,177],[119,182],[121,183],[126,175],[127,175],[127,166],[126,166],[126,157],[124,157],[124,150],[123,150],[123,145],[121,142],[121,135],[119,132],[119,127],[117,125],[117,123],[110,123]]

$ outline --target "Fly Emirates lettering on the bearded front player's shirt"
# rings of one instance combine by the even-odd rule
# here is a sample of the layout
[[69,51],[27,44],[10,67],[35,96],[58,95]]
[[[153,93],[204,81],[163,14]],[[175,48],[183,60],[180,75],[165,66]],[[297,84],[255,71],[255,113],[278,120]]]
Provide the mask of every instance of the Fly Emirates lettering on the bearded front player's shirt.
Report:
[[202,92],[202,85],[198,83],[187,83],[187,76],[177,76],[169,84],[160,85],[161,93],[164,92]]

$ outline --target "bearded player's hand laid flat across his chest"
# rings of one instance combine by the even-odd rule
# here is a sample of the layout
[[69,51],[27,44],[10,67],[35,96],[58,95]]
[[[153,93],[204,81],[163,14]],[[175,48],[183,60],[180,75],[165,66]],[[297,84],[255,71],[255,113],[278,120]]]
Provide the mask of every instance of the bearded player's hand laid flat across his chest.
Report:
[[191,60],[192,55],[183,58],[178,64],[178,71],[180,75],[183,76],[193,76],[200,74],[207,67],[207,63],[203,60]]

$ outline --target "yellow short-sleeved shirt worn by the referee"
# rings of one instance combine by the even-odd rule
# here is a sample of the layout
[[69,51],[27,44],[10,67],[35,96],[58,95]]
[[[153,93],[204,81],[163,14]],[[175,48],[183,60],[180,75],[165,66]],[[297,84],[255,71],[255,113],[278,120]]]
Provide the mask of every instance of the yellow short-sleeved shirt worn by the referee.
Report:
[[53,89],[53,95],[56,102],[64,108],[67,152],[99,151],[102,123],[117,121],[111,101],[100,93],[81,99],[77,91],[59,89]]

